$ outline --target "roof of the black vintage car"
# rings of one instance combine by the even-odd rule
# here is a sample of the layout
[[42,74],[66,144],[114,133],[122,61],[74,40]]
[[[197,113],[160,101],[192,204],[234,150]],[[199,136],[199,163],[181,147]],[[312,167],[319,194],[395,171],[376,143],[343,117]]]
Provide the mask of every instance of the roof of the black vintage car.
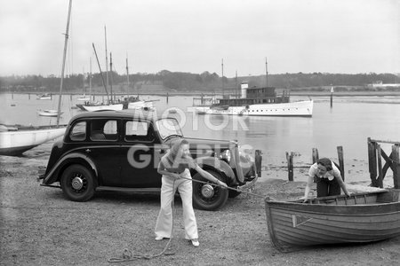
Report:
[[160,117],[154,111],[148,111],[143,109],[127,109],[122,111],[111,111],[111,110],[100,110],[94,112],[85,112],[76,114],[71,121],[75,121],[77,119],[91,119],[91,118],[133,118],[140,117],[141,119],[145,119],[147,121],[156,121]]

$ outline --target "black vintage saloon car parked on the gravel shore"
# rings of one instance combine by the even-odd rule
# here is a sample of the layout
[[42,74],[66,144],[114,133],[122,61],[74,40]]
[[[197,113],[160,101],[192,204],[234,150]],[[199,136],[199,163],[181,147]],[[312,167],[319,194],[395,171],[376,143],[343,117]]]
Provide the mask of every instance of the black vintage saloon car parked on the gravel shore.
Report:
[[[69,200],[90,200],[95,191],[160,192],[157,165],[171,142],[183,137],[175,118],[155,112],[100,111],[78,114],[52,146],[41,185],[59,187]],[[235,141],[189,138],[198,165],[229,187],[251,188],[260,175],[257,158],[239,153]],[[251,158],[252,157],[252,158]],[[258,162],[258,163],[254,163]],[[214,210],[240,192],[206,182],[192,170],[193,205]]]

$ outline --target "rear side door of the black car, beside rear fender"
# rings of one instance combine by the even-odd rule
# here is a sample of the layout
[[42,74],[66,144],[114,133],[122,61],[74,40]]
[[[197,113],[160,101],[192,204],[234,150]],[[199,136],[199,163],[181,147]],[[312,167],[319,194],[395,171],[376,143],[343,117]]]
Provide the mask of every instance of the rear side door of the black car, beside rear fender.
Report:
[[95,163],[99,174],[99,185],[121,184],[120,123],[115,118],[93,119],[90,122],[90,146],[84,150]]

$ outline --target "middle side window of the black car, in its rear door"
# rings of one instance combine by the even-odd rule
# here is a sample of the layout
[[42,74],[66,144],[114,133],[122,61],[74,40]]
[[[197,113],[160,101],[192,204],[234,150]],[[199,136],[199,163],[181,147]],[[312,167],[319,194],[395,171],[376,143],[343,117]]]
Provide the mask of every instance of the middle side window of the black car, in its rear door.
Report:
[[118,127],[116,120],[92,120],[91,139],[93,141],[116,141],[118,139]]

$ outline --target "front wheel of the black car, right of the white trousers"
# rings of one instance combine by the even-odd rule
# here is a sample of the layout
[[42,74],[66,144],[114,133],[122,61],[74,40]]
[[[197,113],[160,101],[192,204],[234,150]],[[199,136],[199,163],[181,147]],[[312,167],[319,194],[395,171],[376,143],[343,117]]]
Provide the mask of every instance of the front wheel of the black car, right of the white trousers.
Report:
[[[225,182],[217,172],[212,170],[206,171],[220,179],[220,181]],[[193,179],[208,182],[207,179],[198,173],[193,176]],[[227,200],[228,190],[226,188],[222,188],[211,182],[204,184],[193,181],[193,207],[204,210],[215,210],[224,206]]]

